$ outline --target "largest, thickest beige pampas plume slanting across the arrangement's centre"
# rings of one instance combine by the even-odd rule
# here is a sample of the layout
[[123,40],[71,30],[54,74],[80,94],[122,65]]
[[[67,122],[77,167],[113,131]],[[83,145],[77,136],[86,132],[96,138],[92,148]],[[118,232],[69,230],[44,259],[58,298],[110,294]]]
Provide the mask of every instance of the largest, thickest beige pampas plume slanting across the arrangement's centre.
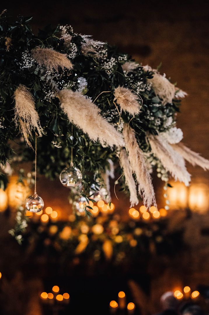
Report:
[[68,116],[69,121],[88,134],[93,141],[101,142],[102,146],[107,144],[110,147],[124,146],[124,140],[121,134],[109,124],[99,114],[99,108],[86,99],[80,92],[73,92],[69,89],[64,89],[58,94],[61,102],[61,108]]

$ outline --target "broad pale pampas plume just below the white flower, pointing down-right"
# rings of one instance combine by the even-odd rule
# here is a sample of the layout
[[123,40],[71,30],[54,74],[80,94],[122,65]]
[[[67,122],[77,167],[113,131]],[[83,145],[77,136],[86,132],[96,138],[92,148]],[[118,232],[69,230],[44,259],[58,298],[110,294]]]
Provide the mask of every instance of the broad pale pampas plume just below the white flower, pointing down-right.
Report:
[[175,180],[189,186],[191,176],[186,170],[184,158],[163,137],[150,135],[148,139],[152,152],[161,161],[166,171],[170,172]]

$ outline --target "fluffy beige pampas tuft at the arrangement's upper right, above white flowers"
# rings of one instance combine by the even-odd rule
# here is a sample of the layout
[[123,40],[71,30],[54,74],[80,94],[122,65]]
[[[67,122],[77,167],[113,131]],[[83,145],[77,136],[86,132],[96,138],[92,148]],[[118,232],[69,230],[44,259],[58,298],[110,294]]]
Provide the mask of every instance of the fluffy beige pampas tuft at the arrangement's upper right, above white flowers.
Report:
[[148,82],[152,84],[155,94],[162,99],[163,105],[172,103],[172,100],[175,97],[176,89],[165,76],[162,76],[159,73],[154,73],[153,78],[148,79]]

